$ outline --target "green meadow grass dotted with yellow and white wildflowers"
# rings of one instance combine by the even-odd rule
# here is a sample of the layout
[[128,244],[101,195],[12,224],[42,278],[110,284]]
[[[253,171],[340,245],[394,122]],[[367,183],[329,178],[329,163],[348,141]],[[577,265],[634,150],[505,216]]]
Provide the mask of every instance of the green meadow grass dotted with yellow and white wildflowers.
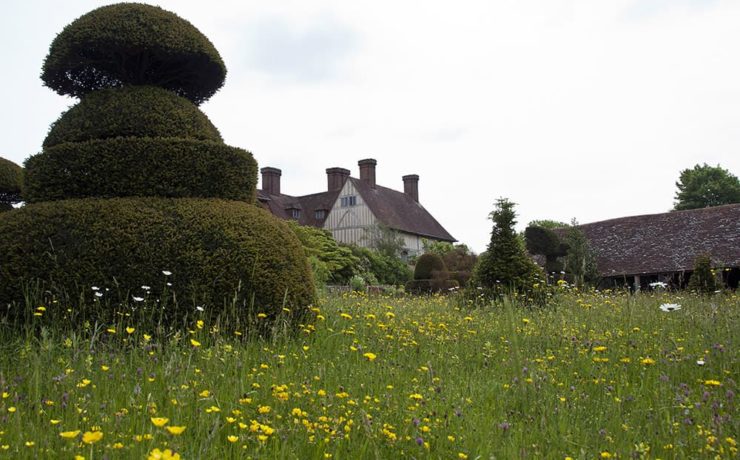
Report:
[[34,304],[0,325],[0,457],[736,458],[739,299],[345,294],[261,337]]

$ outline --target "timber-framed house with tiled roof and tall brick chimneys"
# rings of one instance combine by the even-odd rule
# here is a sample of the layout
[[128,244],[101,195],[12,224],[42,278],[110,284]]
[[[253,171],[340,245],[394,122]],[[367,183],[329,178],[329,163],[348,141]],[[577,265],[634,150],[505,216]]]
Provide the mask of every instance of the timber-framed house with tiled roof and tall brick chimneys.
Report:
[[369,232],[383,225],[404,239],[404,254],[423,251],[423,240],[455,242],[455,238],[419,203],[419,176],[403,176],[404,191],[378,185],[377,161],[358,162],[360,177],[351,177],[344,168],[326,170],[327,190],[305,196],[281,192],[277,168],[266,167],[258,200],[263,207],[282,219],[294,219],[301,225],[324,228],[340,243],[369,246]]

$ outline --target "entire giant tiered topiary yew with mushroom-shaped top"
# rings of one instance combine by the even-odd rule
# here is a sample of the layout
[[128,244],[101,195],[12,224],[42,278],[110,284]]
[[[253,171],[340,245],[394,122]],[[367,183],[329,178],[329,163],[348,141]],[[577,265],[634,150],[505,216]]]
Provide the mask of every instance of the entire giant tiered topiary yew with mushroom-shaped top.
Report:
[[157,294],[166,270],[181,300],[302,316],[315,294],[300,242],[254,205],[251,153],[196,106],[225,75],[211,42],[158,7],[104,6],[65,27],[42,79],[81,100],[26,161],[29,204],[0,216],[0,303],[29,283],[125,301],[142,284]]

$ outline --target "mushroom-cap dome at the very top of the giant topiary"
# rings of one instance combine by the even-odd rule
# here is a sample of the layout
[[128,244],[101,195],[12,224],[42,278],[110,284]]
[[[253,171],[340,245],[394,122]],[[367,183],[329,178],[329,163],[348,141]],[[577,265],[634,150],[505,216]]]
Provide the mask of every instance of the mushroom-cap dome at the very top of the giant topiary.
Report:
[[223,85],[226,66],[188,21],[159,7],[119,3],[69,24],[51,44],[41,79],[80,97],[122,85],[153,85],[196,104]]

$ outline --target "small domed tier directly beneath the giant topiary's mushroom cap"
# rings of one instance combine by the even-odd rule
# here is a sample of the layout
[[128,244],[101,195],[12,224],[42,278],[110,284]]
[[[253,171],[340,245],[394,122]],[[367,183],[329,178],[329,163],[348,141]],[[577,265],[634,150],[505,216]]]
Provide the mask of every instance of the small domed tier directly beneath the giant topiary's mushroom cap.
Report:
[[83,97],[51,126],[44,147],[130,136],[222,141],[218,129],[187,99],[153,86],[125,86]]

